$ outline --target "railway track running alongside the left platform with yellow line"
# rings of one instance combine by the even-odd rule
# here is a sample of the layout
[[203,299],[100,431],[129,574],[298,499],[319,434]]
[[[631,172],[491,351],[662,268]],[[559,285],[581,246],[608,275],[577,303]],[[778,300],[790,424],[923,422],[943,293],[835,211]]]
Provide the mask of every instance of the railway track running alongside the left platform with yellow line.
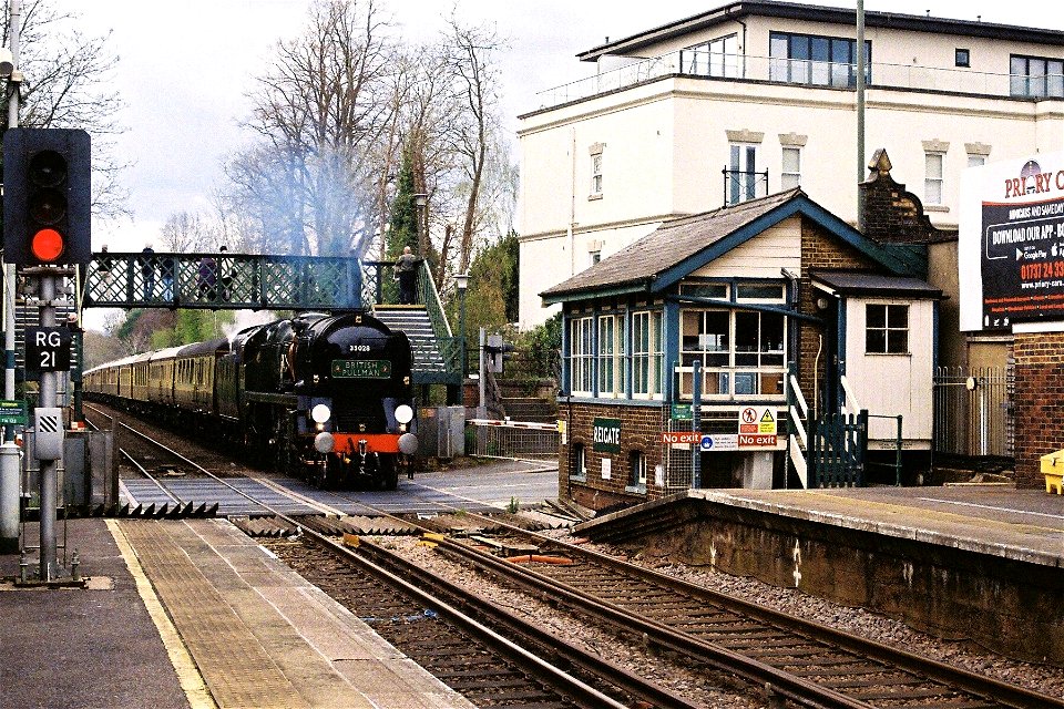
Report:
[[[180,461],[196,475],[228,487],[260,506],[263,513],[273,514],[298,532],[296,541],[270,544],[278,556],[351,608],[399,650],[478,706],[694,708],[684,699],[622,668],[603,664],[597,657],[552,638],[503,609],[495,608],[491,614],[492,625],[499,628],[491,629],[474,617],[474,614],[487,613],[482,598],[433,579],[412,565],[401,567],[396,559],[390,562],[390,568],[386,568],[368,558],[365,549],[362,553],[349,549],[329,538],[328,534],[316,531],[316,527],[328,533],[335,531],[324,517],[289,516],[272,502],[256,500],[242,490],[239,480],[222,479],[151,435],[124,423],[120,425],[152,449],[140,451],[137,455],[147,455],[151,460],[161,455]],[[137,455],[129,454],[127,459],[144,471],[145,466],[136,462]],[[150,477],[175,502],[183,502],[170,492],[172,485]],[[287,494],[298,504],[314,506],[321,514],[335,513],[328,505],[291,491],[277,492]],[[385,557],[378,554],[375,558]],[[543,657],[556,659],[549,661]],[[582,677],[559,667],[559,664],[577,668]]]

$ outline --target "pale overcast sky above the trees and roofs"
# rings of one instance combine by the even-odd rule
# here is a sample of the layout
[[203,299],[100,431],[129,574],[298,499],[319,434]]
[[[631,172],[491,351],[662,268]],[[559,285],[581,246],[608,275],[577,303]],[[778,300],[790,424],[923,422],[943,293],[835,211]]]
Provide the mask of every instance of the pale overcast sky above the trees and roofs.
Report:
[[[310,0],[59,0],[84,8],[84,31],[111,31],[120,56],[114,79],[125,102],[127,131],[120,157],[133,164],[125,175],[132,194],[131,224],[98,225],[94,248],[140,250],[171,214],[206,213],[212,188],[222,181],[222,158],[247,140],[238,121],[247,115],[244,94],[262,73],[279,39],[304,27]],[[536,105],[536,92],[587,75],[593,66],[574,54],[606,37],[618,39],[723,4],[723,0],[668,2],[572,0],[458,0],[460,16],[494,22],[508,37],[502,56],[504,107],[514,116]],[[450,1],[378,0],[413,41],[442,28]],[[836,0],[818,4],[846,6]],[[850,3],[849,7],[856,7]],[[908,12],[984,22],[1064,30],[1064,7],[1055,2],[990,0],[866,0],[866,10]]]

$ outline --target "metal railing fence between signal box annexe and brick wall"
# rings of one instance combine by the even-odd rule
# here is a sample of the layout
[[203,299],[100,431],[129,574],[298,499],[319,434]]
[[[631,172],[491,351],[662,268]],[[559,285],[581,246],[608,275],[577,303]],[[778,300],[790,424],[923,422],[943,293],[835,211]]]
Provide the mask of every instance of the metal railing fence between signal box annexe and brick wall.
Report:
[[939,367],[934,372],[934,450],[1011,456],[1012,370]]

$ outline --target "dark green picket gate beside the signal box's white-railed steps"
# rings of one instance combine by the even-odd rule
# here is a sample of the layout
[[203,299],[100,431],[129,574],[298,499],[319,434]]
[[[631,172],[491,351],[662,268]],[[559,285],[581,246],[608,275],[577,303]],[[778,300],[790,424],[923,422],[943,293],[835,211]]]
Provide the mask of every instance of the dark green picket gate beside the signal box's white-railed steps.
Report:
[[810,487],[861,487],[868,454],[868,411],[829,413],[809,434]]

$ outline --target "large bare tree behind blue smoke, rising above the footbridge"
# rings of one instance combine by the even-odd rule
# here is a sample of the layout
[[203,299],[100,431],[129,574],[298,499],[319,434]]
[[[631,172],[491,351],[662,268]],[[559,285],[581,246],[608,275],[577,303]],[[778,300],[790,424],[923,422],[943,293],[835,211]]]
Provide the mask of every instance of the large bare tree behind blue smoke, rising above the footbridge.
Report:
[[[317,0],[279,42],[252,94],[258,141],[228,166],[264,244],[291,254],[364,254],[377,224],[374,156],[392,125],[395,44],[372,0]],[[278,238],[279,237],[279,238]]]

